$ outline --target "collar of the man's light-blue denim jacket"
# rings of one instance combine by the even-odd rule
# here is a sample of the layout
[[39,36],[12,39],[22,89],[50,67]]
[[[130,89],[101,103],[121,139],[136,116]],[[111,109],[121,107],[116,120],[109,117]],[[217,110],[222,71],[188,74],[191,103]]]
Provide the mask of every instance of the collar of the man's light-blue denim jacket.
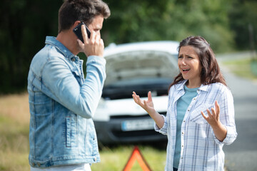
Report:
[[56,40],[56,37],[54,36],[46,36],[46,44],[51,44],[52,46],[55,46],[57,49],[59,49],[59,51],[61,51],[61,53],[66,57],[69,58],[71,60],[71,58],[73,57],[77,57],[75,56],[73,53],[71,53],[71,51],[69,51],[68,48],[66,48],[64,46],[64,44],[62,44],[60,41]]

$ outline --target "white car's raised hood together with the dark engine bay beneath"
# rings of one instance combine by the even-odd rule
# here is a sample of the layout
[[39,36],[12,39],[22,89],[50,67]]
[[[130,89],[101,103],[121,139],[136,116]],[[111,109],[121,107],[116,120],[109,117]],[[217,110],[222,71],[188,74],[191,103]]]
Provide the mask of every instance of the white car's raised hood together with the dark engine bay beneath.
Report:
[[104,50],[106,81],[102,97],[106,100],[131,98],[135,91],[146,97],[167,95],[168,86],[178,74],[178,42],[151,41],[111,45]]

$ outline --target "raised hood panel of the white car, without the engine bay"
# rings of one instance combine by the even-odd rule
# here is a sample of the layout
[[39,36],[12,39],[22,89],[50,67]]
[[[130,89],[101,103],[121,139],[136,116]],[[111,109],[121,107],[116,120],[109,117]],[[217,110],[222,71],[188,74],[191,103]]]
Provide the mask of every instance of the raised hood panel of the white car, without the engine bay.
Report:
[[176,41],[152,41],[111,45],[105,48],[105,86],[141,79],[168,78],[178,73]]

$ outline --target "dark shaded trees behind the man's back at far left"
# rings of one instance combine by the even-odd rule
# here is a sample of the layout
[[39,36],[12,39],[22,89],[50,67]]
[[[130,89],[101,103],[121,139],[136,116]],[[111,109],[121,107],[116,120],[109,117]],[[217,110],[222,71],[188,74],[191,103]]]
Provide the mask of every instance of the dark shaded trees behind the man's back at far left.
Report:
[[1,2],[0,93],[26,88],[31,58],[44,46],[46,35],[57,34],[60,4],[50,0]]

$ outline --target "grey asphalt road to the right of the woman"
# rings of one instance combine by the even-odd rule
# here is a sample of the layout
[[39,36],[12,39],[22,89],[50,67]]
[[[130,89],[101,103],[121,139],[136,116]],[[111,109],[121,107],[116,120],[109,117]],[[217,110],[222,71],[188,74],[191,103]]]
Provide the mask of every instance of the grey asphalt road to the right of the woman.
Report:
[[[222,60],[233,58],[225,56]],[[240,58],[240,55],[236,58]],[[231,145],[224,145],[225,166],[228,171],[257,170],[257,82],[239,78],[221,65],[234,98],[238,137]]]

